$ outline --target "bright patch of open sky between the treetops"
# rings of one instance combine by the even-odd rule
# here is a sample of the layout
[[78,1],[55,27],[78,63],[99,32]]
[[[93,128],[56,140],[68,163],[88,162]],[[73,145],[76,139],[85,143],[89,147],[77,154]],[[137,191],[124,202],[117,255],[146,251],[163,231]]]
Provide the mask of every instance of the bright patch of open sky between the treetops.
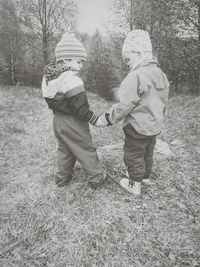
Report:
[[79,0],[79,30],[89,34],[109,19],[108,0]]

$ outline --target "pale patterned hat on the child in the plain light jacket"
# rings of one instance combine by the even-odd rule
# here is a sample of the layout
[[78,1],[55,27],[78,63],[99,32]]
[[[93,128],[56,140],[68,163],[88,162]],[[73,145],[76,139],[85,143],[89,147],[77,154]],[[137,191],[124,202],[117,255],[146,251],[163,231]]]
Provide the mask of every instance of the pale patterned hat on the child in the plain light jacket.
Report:
[[132,30],[128,33],[122,47],[122,57],[124,58],[133,52],[152,52],[152,44],[148,32]]

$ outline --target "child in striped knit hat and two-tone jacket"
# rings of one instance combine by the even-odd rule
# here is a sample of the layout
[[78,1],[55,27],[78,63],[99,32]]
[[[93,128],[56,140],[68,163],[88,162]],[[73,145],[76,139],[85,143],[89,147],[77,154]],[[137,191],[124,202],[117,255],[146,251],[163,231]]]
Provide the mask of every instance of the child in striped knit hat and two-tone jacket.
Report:
[[101,126],[89,103],[78,72],[86,60],[84,46],[73,34],[65,33],[55,49],[56,64],[44,68],[42,95],[53,110],[54,133],[58,141],[58,186],[67,185],[76,160],[88,176],[88,184],[96,189],[105,181],[89,124]]

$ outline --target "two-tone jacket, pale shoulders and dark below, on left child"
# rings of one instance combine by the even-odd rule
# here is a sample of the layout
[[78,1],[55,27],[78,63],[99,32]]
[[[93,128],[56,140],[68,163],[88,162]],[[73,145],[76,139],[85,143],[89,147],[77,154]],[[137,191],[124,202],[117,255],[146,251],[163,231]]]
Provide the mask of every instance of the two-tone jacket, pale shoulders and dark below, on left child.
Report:
[[65,71],[54,80],[42,81],[42,96],[53,112],[75,115],[80,120],[95,124],[98,116],[89,108],[82,80],[73,71]]

